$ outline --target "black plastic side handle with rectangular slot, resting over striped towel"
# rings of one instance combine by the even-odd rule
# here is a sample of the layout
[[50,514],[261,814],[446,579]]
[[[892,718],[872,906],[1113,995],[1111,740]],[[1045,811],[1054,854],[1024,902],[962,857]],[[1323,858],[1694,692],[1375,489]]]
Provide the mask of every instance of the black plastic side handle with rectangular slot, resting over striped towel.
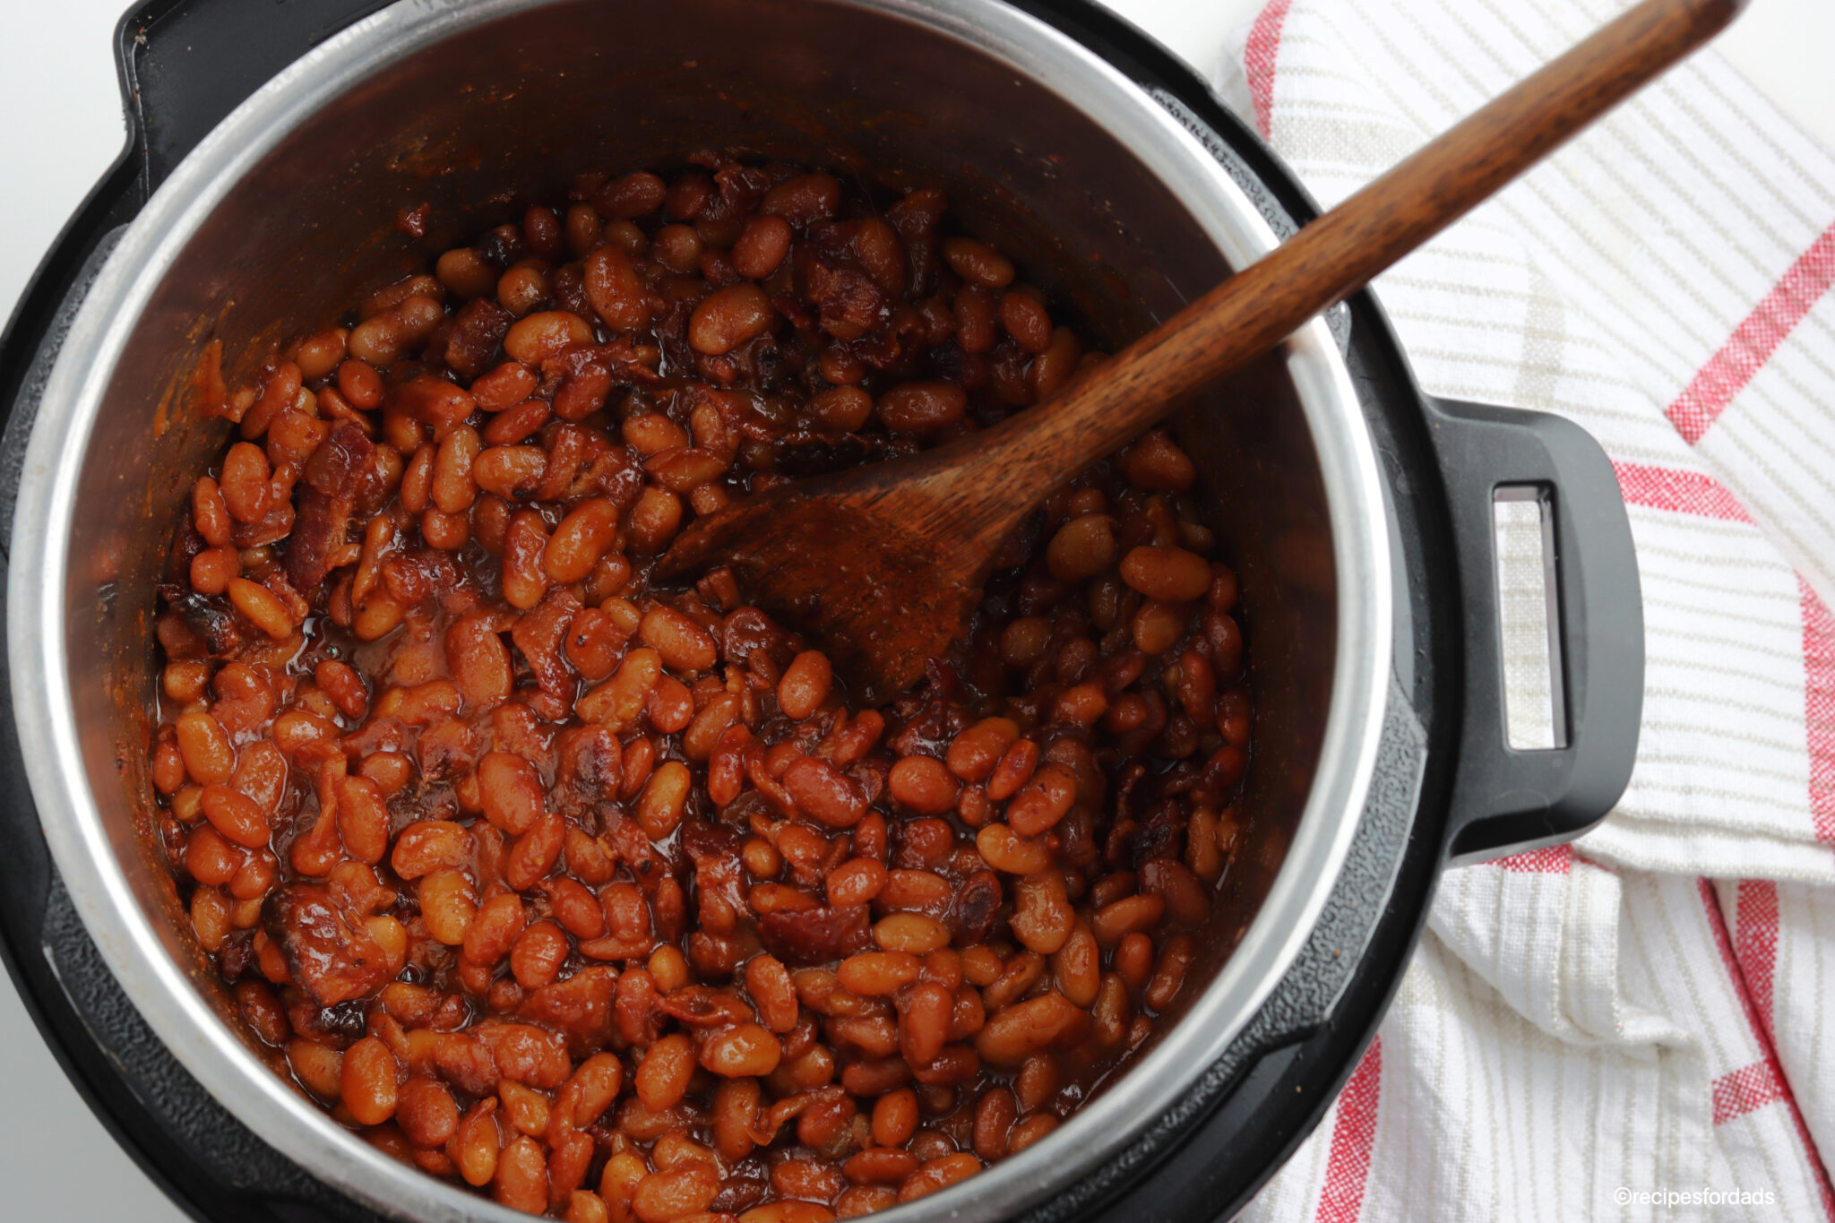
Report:
[[[1453,517],[1466,682],[1446,851],[1481,862],[1580,836],[1624,794],[1644,710],[1644,603],[1606,451],[1547,413],[1426,398]],[[1562,746],[1512,748],[1492,506],[1538,486],[1552,512]]]

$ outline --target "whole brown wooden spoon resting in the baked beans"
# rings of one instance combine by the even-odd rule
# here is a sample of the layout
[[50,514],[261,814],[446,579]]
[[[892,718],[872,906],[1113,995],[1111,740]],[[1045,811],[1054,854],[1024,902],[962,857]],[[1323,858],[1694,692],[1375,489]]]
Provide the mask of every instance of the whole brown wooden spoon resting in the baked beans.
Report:
[[695,521],[661,576],[732,567],[868,700],[969,633],[993,559],[1051,490],[1279,345],[1639,86],[1745,0],[1644,0],[1064,387],[923,455],[785,484]]

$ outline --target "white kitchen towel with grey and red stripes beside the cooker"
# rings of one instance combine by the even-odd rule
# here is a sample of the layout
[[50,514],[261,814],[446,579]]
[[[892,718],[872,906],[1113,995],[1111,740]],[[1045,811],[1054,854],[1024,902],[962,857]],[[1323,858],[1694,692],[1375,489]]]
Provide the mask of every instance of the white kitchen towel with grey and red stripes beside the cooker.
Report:
[[[1620,7],[1272,0],[1218,84],[1330,205]],[[1712,51],[1376,281],[1428,391],[1606,447],[1644,726],[1595,832],[1448,873],[1244,1217],[1835,1223],[1831,281],[1835,158]]]

